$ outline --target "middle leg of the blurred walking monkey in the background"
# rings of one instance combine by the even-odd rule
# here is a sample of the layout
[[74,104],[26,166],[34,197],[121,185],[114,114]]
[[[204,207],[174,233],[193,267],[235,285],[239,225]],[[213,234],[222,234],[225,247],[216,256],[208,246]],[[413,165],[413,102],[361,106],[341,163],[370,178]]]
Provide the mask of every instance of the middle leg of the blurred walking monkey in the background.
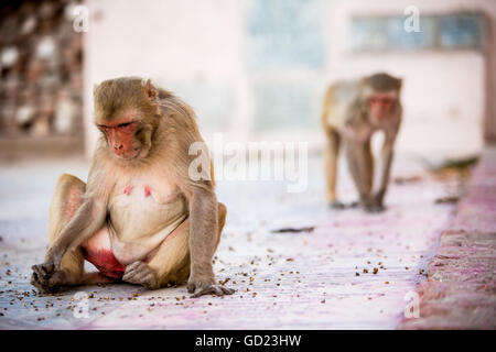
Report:
[[360,206],[365,210],[371,210],[371,188],[374,182],[374,160],[370,150],[370,141],[347,143],[346,154],[349,173],[360,198]]

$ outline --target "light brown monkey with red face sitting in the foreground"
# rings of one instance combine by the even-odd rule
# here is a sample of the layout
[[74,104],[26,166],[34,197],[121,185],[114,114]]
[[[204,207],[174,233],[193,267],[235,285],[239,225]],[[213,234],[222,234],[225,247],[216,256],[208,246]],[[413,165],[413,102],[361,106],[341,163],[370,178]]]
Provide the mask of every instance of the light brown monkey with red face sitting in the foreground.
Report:
[[[94,91],[101,134],[88,182],[62,175],[50,207],[51,246],[31,284],[123,280],[154,289],[187,279],[194,297],[234,290],[217,285],[213,256],[226,207],[211,178],[193,180],[188,154],[202,142],[193,110],[150,80],[117,78]],[[208,177],[207,177],[208,178]],[[84,261],[99,272],[85,273]]]

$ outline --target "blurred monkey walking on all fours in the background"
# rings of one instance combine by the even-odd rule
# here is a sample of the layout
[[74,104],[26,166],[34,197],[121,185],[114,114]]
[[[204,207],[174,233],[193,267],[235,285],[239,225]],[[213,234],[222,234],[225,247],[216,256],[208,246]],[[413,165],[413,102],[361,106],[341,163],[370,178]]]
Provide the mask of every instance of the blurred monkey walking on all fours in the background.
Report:
[[[358,80],[342,80],[326,91],[322,123],[327,135],[325,172],[327,200],[332,208],[344,205],[336,197],[337,158],[343,142],[359,206],[366,211],[382,211],[389,182],[393,145],[401,122],[401,79],[380,73]],[[379,184],[374,188],[374,158],[370,138],[384,131]]]

